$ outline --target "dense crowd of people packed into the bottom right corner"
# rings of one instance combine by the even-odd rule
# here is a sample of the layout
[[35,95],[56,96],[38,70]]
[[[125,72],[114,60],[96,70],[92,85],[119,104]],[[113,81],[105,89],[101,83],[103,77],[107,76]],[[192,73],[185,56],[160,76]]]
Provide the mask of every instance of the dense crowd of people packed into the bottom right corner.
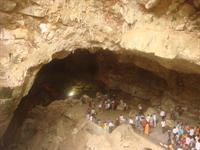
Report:
[[170,150],[200,150],[200,127],[192,127],[178,122],[168,130]]

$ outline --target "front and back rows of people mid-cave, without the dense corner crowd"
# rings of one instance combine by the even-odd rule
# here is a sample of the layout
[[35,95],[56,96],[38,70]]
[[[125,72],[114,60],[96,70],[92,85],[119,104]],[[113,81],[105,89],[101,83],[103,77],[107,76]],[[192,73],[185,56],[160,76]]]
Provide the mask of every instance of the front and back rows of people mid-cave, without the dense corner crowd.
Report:
[[[152,115],[147,115],[145,117],[143,113],[143,107],[141,104],[138,104],[138,114],[135,117],[125,117],[122,114],[119,115],[114,121],[109,120],[105,122],[101,122],[100,119],[97,119],[97,112],[95,110],[96,107],[102,110],[121,110],[121,111],[127,111],[129,109],[129,106],[126,102],[123,100],[116,100],[116,97],[113,96],[111,98],[108,98],[107,95],[100,95],[96,94],[96,99],[100,101],[100,103],[96,106],[94,101],[91,100],[87,95],[83,95],[81,98],[82,103],[88,104],[88,109],[86,112],[86,118],[90,120],[91,122],[94,122],[100,126],[102,126],[106,131],[111,133],[114,128],[121,124],[130,124],[134,129],[137,129],[139,133],[144,133],[146,135],[149,135],[150,128],[156,127],[157,124],[157,115],[156,113]],[[164,118],[165,112],[161,111],[161,116]],[[161,121],[161,125],[164,128],[166,127],[165,121]]]

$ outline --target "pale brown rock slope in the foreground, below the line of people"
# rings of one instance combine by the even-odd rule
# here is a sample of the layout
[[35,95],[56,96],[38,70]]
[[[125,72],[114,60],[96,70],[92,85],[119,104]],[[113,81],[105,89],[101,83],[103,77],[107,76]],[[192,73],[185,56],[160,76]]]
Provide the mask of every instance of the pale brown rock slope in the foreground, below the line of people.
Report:
[[162,149],[138,135],[129,125],[121,125],[109,134],[101,126],[84,119],[87,108],[83,107],[57,101],[46,108],[34,108],[16,133],[16,146],[9,150],[27,150],[27,147],[30,150]]

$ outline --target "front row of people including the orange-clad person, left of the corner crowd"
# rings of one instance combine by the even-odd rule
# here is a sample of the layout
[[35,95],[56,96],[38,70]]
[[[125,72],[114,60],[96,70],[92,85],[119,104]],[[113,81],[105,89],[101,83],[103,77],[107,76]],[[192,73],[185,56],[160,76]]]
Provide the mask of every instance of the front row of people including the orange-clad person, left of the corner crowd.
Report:
[[[166,131],[166,121],[164,119],[165,112],[161,111],[160,115],[162,118],[161,120],[162,131],[163,133],[165,133]],[[124,115],[120,114],[119,117],[115,119],[115,121],[109,120],[109,121],[101,122],[101,120],[98,119],[96,116],[97,116],[97,112],[95,108],[88,107],[87,112],[86,112],[86,118],[89,121],[102,126],[109,133],[111,133],[113,129],[118,127],[119,125],[129,124],[134,129],[139,131],[139,133],[149,135],[150,129],[155,128],[158,123],[156,113],[145,116],[142,112],[141,104],[138,105],[138,114],[135,117],[125,117]]]

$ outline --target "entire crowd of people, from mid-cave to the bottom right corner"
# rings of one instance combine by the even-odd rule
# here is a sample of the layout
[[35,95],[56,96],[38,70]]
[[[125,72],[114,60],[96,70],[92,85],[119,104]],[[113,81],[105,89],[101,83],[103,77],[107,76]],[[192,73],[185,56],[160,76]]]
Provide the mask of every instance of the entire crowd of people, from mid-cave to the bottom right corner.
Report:
[[162,133],[167,132],[168,139],[167,145],[161,144],[171,150],[200,150],[200,128],[192,127],[190,125],[184,125],[182,122],[178,122],[174,128],[170,128],[166,123],[166,112],[160,110],[160,114],[157,113],[144,115],[144,110],[141,104],[138,104],[137,114],[132,117],[126,117],[120,114],[115,120],[108,120],[102,122],[97,118],[96,109],[101,110],[121,110],[127,111],[129,106],[123,100],[116,100],[116,97],[108,98],[107,95],[101,96],[96,95],[99,103],[96,104],[94,101],[86,101],[88,97],[82,98],[82,103],[88,104],[86,112],[86,118],[98,124],[108,133],[111,133],[117,126],[121,124],[129,124],[136,131],[141,134],[149,135],[151,129],[158,126],[162,128]]

